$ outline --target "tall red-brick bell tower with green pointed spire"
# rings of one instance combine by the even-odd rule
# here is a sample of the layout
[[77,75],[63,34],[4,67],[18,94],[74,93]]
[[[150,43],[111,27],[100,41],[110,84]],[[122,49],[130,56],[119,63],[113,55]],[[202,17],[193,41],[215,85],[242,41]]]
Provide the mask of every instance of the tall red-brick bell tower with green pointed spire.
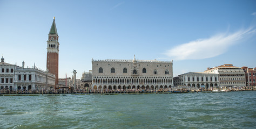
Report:
[[49,70],[49,73],[55,75],[55,88],[58,84],[58,74],[59,74],[59,36],[57,33],[57,28],[55,24],[55,17],[51,25],[50,32],[48,34],[47,40],[47,62],[46,70]]

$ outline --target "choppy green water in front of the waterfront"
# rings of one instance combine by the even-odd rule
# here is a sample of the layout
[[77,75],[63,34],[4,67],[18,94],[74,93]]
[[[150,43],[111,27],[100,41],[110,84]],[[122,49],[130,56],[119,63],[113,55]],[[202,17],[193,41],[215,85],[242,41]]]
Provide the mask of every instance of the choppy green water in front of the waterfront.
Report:
[[256,91],[0,96],[0,128],[256,128]]

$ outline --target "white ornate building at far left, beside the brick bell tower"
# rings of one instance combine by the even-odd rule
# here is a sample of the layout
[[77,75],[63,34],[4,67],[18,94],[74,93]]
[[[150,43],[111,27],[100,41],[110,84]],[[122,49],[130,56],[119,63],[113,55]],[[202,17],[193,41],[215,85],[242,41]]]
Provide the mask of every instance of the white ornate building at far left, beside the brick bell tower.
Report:
[[[38,68],[24,68],[16,64],[5,63],[2,58],[1,68],[1,89],[25,89],[25,90],[41,90],[50,89],[55,86],[55,75],[48,71],[43,71]],[[2,83],[4,81],[4,83]],[[3,87],[2,87],[3,86]]]

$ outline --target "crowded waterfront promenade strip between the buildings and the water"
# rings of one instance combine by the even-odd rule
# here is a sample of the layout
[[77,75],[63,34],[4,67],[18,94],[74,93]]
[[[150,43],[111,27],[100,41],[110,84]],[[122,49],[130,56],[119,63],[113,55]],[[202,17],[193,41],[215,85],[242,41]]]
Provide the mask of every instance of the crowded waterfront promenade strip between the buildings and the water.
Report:
[[[247,91],[254,90],[253,87],[241,87],[233,89],[221,89],[218,92],[229,91]],[[215,89],[216,90],[216,89]],[[178,91],[178,92],[177,92]],[[160,94],[160,93],[185,93],[185,92],[216,92],[212,89],[196,89],[194,87],[174,87],[171,89],[159,89],[159,90],[145,90],[145,89],[128,89],[128,90],[69,90],[69,89],[57,89],[57,90],[10,90],[1,89],[0,95],[30,95],[30,94]]]

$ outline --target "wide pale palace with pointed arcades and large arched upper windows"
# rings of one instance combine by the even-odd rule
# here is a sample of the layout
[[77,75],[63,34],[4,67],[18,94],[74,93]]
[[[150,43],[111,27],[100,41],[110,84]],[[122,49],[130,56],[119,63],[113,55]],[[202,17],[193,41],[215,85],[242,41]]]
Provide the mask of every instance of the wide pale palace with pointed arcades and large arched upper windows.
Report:
[[173,87],[172,61],[93,60],[92,89],[167,89]]

